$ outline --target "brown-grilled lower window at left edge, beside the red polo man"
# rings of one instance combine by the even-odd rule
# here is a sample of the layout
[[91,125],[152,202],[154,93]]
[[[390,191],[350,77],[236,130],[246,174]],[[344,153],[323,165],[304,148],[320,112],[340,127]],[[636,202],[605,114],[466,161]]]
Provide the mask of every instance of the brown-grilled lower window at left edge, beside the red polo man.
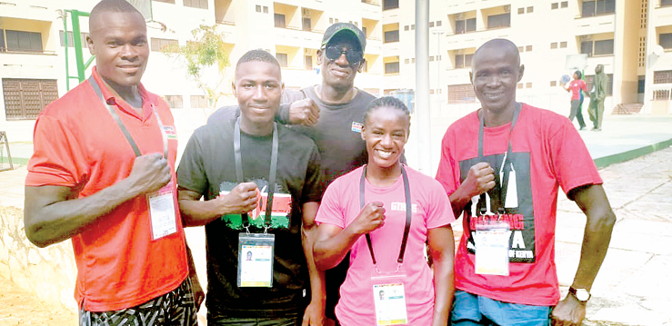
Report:
[[3,93],[7,120],[35,119],[58,98],[55,79],[3,78]]

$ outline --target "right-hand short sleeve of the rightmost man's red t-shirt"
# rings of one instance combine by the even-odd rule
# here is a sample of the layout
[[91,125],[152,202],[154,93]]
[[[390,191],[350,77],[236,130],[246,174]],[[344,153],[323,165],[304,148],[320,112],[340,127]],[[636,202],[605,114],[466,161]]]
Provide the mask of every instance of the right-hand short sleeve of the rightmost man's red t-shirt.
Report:
[[561,127],[549,139],[551,164],[565,193],[587,184],[601,184],[593,158],[577,129],[567,119],[556,119]]

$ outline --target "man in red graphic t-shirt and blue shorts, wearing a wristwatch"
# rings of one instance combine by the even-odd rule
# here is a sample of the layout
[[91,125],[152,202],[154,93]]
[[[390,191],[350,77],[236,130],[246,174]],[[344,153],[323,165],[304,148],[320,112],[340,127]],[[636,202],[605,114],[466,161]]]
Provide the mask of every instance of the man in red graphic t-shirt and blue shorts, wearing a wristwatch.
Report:
[[[616,222],[595,163],[565,117],[516,102],[525,70],[516,44],[483,44],[471,69],[482,108],[448,128],[436,173],[456,216],[464,212],[451,323],[579,325]],[[587,216],[577,274],[562,301],[558,187]]]

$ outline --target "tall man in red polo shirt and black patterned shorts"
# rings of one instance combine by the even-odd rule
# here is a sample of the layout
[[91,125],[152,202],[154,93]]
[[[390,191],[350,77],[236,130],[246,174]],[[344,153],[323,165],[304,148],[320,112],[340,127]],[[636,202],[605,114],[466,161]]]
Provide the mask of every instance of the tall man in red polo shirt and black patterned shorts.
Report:
[[72,239],[80,325],[196,325],[173,116],[140,84],[145,20],[103,0],[89,28],[91,77],[35,123],[25,233],[40,247]]

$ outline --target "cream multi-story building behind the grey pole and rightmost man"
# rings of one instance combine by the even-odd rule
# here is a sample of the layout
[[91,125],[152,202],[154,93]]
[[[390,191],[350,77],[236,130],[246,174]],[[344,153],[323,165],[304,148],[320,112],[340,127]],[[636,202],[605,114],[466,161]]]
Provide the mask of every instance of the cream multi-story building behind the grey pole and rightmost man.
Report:
[[[386,93],[415,88],[415,10],[416,1],[383,1]],[[670,24],[672,0],[432,0],[430,94],[444,108],[476,103],[468,75],[471,59],[478,46],[502,37],[518,45],[526,65],[518,84],[521,100],[568,112],[560,77],[580,68],[590,86],[595,67],[604,64],[607,114],[619,104],[645,104],[647,112],[667,113],[667,103],[651,101],[669,99]],[[587,54],[586,66],[567,66],[576,63],[577,54]],[[645,96],[647,61],[653,86]]]

